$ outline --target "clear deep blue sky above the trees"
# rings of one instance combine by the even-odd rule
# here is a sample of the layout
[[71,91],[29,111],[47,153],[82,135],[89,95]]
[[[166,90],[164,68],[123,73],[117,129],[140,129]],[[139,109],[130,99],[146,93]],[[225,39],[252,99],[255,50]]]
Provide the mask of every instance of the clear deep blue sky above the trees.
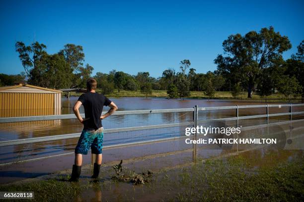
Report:
[[304,40],[304,1],[0,1],[0,73],[18,74],[23,67],[16,41],[35,40],[56,53],[68,43],[81,45],[85,63],[97,71],[112,69],[135,75],[179,70],[179,61],[205,73],[223,53],[230,34],[274,26],[293,48]]

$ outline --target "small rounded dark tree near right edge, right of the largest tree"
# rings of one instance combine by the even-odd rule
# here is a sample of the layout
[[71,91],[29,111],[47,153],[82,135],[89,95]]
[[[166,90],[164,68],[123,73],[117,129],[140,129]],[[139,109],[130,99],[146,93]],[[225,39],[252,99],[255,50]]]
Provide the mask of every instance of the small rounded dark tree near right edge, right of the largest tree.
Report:
[[292,95],[299,93],[300,85],[296,77],[283,76],[279,91],[288,98],[289,102]]

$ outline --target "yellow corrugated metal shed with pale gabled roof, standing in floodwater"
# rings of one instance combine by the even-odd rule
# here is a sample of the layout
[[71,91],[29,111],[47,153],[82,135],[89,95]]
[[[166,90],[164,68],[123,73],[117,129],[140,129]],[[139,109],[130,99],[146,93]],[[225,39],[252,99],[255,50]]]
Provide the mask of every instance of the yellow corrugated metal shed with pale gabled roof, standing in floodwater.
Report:
[[28,84],[0,87],[0,117],[61,114],[61,94]]

